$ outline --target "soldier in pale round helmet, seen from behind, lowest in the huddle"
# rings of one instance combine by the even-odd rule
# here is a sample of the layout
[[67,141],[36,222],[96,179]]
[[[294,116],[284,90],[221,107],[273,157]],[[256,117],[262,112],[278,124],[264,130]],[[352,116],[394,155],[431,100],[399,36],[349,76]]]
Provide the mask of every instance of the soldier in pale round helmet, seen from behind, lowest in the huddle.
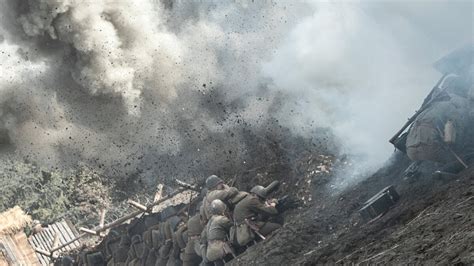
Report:
[[226,259],[233,256],[227,241],[232,222],[225,216],[226,209],[225,203],[219,199],[211,202],[212,216],[201,235],[205,258],[214,265],[224,265]]

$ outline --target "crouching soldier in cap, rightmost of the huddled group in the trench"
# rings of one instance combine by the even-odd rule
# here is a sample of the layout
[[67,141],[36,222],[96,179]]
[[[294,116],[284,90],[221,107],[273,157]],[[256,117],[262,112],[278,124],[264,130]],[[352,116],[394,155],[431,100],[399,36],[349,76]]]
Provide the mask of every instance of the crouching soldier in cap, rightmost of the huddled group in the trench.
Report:
[[277,202],[266,202],[267,191],[263,186],[255,186],[250,194],[242,199],[234,209],[237,242],[245,246],[255,239],[255,234],[263,237],[281,227],[280,224],[268,221],[277,216]]

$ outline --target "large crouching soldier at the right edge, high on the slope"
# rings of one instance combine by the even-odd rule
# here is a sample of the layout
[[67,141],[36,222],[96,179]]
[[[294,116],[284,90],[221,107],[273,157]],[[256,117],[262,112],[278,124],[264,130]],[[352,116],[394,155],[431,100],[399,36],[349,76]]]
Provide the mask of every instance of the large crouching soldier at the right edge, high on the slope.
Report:
[[474,47],[466,46],[435,63],[444,76],[396,141],[411,160],[441,163],[457,172],[474,158],[473,55]]

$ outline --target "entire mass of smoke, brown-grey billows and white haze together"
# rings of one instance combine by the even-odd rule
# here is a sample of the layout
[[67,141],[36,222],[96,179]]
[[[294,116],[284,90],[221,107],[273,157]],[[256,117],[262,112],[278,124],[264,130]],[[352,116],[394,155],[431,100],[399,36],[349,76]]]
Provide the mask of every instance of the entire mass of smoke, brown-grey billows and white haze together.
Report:
[[[366,172],[436,81],[431,63],[472,38],[470,10],[1,1],[0,151],[156,180],[245,168],[257,132],[317,138],[327,127],[341,153],[363,158],[352,171]],[[335,186],[355,180],[346,174]]]

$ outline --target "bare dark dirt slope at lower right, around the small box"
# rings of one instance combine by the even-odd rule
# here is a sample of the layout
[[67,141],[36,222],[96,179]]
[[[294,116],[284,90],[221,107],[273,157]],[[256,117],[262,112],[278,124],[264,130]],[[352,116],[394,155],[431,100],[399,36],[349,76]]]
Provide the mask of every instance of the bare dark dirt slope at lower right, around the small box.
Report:
[[[422,165],[416,178],[404,178],[404,155],[351,189],[330,197],[314,189],[312,204],[290,213],[288,223],[250,247],[231,265],[315,264],[474,264],[474,169],[452,178],[431,175]],[[314,179],[324,176],[313,176]],[[325,180],[319,180],[324,183]],[[400,201],[382,217],[365,223],[362,204],[388,185]]]

